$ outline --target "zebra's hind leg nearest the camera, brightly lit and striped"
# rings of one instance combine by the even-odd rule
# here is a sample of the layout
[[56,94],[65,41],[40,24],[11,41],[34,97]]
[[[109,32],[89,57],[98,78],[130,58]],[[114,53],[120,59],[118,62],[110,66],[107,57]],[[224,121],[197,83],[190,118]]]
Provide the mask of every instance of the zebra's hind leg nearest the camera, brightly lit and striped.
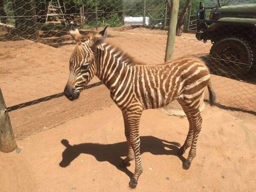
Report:
[[196,155],[196,144],[197,144],[198,135],[201,131],[201,125],[202,125],[202,117],[199,111],[199,100],[196,101],[196,103],[195,102],[193,103],[194,103],[193,105],[186,106],[190,114],[190,119],[193,126],[193,140],[192,140],[192,145],[189,151],[189,156],[187,160],[183,163],[183,169],[189,169],[191,162]]

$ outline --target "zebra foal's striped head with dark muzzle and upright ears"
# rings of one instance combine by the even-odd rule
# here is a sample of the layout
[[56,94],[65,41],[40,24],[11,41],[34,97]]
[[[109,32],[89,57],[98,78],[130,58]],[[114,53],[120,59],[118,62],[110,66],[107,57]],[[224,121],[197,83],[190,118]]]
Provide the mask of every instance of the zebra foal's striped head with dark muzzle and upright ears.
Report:
[[82,36],[73,22],[69,25],[69,32],[76,41],[76,47],[70,57],[70,75],[64,95],[71,101],[78,99],[81,91],[96,73],[96,50],[107,37],[107,27],[96,35]]

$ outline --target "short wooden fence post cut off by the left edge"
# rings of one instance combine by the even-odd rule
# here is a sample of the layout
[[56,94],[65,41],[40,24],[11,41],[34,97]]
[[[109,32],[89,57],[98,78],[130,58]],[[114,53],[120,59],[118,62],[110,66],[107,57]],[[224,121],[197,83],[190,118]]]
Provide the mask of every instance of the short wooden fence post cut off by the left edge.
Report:
[[12,124],[0,89],[0,151],[9,153],[16,148],[17,144],[12,131]]

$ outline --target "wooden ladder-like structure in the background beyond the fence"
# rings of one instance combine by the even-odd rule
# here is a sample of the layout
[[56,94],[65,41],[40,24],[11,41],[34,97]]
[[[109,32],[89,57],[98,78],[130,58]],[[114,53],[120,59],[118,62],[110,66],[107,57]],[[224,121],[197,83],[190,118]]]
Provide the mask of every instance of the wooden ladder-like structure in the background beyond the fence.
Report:
[[[65,7],[64,7],[65,9]],[[47,15],[46,15],[46,24],[61,24],[65,23],[67,26],[66,19],[61,9],[61,4],[59,0],[51,0],[48,5]]]

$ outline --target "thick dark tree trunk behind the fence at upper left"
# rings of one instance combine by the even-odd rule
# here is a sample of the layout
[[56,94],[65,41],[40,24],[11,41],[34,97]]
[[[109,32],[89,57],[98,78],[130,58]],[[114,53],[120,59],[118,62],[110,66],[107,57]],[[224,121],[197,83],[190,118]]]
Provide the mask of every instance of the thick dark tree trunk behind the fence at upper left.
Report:
[[13,0],[16,35],[37,40],[39,36],[34,0]]

